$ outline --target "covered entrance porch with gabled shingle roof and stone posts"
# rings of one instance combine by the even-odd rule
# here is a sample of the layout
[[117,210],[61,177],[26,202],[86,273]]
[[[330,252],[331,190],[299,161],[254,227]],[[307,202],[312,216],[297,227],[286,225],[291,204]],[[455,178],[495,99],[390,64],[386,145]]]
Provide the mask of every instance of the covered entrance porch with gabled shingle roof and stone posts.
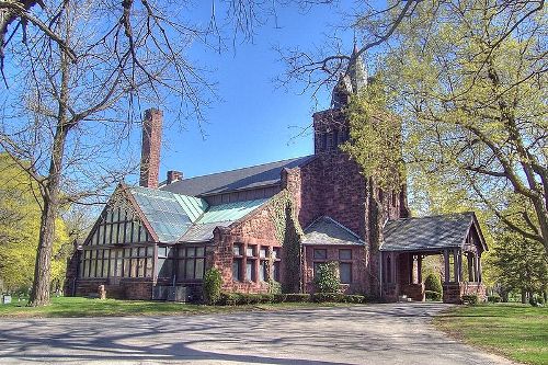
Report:
[[401,296],[425,299],[423,261],[437,255],[444,303],[461,303],[465,295],[484,299],[481,253],[487,246],[473,213],[390,220],[380,248],[380,293],[388,301]]

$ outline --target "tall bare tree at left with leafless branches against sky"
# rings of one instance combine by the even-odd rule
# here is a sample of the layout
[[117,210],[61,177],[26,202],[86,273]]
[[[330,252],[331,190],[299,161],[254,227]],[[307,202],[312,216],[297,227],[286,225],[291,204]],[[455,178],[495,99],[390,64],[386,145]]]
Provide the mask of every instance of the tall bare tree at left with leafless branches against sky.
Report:
[[[61,207],[93,203],[136,168],[127,158],[135,155],[127,137],[140,122],[140,104],[178,96],[181,114],[203,121],[214,89],[186,57],[189,47],[201,43],[219,52],[235,33],[249,39],[258,11],[271,7],[242,0],[224,2],[220,10],[212,4],[212,18],[199,25],[186,1],[0,1],[0,57],[10,88],[0,146],[41,192],[31,306],[49,301]],[[219,11],[232,32],[218,25]]]

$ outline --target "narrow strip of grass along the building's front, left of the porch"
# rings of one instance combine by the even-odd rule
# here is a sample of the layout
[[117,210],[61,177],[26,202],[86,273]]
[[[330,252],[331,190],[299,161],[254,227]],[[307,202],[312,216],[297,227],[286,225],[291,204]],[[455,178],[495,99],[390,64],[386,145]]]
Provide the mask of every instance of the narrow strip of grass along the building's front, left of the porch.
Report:
[[[16,300],[16,299],[15,299]],[[162,316],[205,315],[249,310],[278,310],[329,306],[351,306],[349,304],[281,303],[239,307],[201,306],[171,301],[88,299],[81,297],[54,297],[46,307],[25,307],[26,301],[0,305],[2,317],[114,317],[114,316]]]

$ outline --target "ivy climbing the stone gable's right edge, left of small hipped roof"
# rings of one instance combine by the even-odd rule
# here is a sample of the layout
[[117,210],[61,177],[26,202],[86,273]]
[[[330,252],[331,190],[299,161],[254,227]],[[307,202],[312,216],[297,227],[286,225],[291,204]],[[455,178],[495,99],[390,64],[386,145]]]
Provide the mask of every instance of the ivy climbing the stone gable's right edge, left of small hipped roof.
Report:
[[275,226],[276,238],[284,248],[283,293],[300,293],[302,290],[302,228],[295,215],[292,194],[283,190],[271,201],[271,217]]

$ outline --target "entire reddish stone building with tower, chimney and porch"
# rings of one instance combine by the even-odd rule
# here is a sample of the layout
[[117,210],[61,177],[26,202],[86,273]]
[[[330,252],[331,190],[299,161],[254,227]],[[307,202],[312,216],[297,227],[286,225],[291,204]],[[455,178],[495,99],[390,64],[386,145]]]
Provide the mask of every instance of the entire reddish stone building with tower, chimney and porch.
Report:
[[[332,107],[313,114],[315,153],[197,178],[169,171],[159,182],[162,113],[145,113],[140,186],[119,184],[71,258],[66,293],[198,298],[218,267],[222,289],[313,292],[318,265],[338,262],[341,292],[424,299],[421,261],[444,255],[445,301],[482,294],[482,251],[473,213],[410,218],[407,190],[383,191],[339,146],[343,113],[367,84],[353,54]],[[463,275],[463,255],[468,263]]]

